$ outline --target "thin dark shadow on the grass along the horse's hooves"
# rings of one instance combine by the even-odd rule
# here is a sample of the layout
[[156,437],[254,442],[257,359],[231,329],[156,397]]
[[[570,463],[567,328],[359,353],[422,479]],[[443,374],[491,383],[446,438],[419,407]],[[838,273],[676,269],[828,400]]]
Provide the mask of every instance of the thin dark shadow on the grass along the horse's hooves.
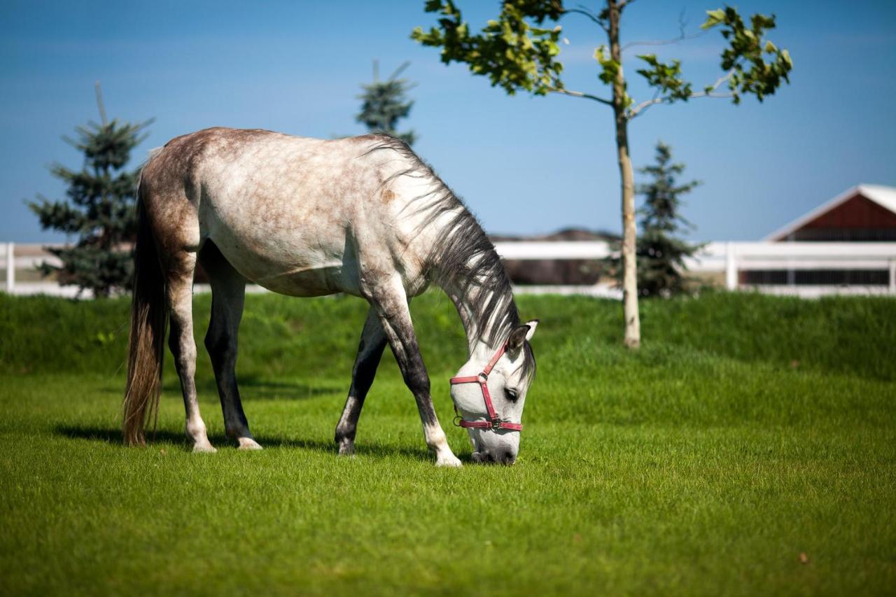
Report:
[[[68,437],[70,439],[88,439],[92,441],[103,442],[112,446],[124,446],[124,438],[121,429],[99,426],[74,426],[61,425],[57,426],[56,434]],[[167,429],[159,429],[155,432],[147,433],[147,440],[155,445],[173,445],[181,446],[185,451],[189,448],[186,445],[184,434],[169,431]],[[234,443],[223,434],[213,434],[209,436],[209,440],[213,446],[235,446]],[[325,454],[337,454],[336,444],[334,442],[321,441],[317,439],[301,439],[301,438],[284,438],[272,436],[255,436],[255,440],[263,447],[285,447],[299,448],[302,450],[313,450]],[[402,455],[409,456],[415,460],[428,461],[432,460],[432,456],[422,448],[411,448],[406,446],[389,446],[384,444],[361,443],[355,446],[355,452],[358,455],[375,456],[385,458],[388,456]],[[463,456],[460,456],[463,459]],[[469,459],[469,457],[468,457]]]

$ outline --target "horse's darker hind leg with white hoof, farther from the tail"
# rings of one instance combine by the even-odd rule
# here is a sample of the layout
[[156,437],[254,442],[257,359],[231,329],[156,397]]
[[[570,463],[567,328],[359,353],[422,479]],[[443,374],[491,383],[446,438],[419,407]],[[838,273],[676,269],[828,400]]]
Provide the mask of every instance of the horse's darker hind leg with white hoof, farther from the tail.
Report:
[[224,428],[228,437],[237,440],[240,449],[260,450],[243,411],[237,387],[237,333],[246,298],[246,278],[228,263],[218,247],[206,241],[199,254],[202,269],[211,282],[211,324],[205,334],[205,348],[215,371]]

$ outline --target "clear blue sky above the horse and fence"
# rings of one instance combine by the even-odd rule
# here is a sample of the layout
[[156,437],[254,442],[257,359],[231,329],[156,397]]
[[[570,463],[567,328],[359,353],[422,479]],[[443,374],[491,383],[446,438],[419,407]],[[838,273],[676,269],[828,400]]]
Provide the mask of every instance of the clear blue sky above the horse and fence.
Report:
[[[460,0],[483,24],[497,2]],[[574,4],[574,3],[573,3]],[[585,2],[585,4],[596,4]],[[719,3],[720,4],[720,3]],[[757,0],[742,13],[776,13],[771,33],[794,59],[791,85],[758,104],[724,99],[651,108],[631,125],[636,165],[658,139],[703,181],[685,216],[694,238],[762,238],[858,183],[896,186],[896,3]],[[711,0],[637,0],[624,41],[697,30]],[[10,2],[0,5],[0,241],[62,239],[41,231],[24,200],[60,197],[47,165],[81,163],[60,137],[97,119],[93,82],[110,117],[155,117],[134,154],[211,125],[307,136],[359,134],[358,85],[378,58],[384,73],[411,61],[418,83],[407,126],[415,149],[486,229],[540,233],[568,226],[618,230],[619,193],[608,108],[566,97],[508,97],[463,65],[444,66],[409,39],[435,19],[423,0],[377,2]],[[562,21],[571,89],[607,95],[590,58],[602,31]],[[718,33],[661,48],[694,82],[719,75]],[[626,54],[627,73],[633,56]],[[632,84],[636,99],[646,91]]]

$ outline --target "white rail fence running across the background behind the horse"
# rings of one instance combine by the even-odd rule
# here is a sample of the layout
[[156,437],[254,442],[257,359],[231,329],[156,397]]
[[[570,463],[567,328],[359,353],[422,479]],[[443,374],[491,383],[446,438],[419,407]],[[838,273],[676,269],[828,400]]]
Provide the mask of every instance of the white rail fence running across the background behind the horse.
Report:
[[[15,294],[45,292],[73,296],[76,289],[60,287],[53,282],[17,282],[16,271],[28,271],[40,263],[58,264],[53,255],[39,245],[0,244],[0,269],[6,271],[5,290]],[[495,244],[504,259],[603,259],[611,255],[602,241],[513,241]],[[13,267],[9,267],[13,264]],[[740,273],[750,271],[782,271],[790,273],[788,283],[751,285],[750,289],[775,294],[797,294],[813,297],[823,294],[889,294],[896,295],[896,243],[823,243],[823,242],[712,242],[701,253],[687,261],[694,273],[724,273],[728,290],[745,288]],[[887,283],[866,285],[797,284],[792,273],[799,271],[866,270],[885,271]],[[611,284],[593,286],[520,286],[516,290],[530,293],[589,294],[619,298],[621,293]]]

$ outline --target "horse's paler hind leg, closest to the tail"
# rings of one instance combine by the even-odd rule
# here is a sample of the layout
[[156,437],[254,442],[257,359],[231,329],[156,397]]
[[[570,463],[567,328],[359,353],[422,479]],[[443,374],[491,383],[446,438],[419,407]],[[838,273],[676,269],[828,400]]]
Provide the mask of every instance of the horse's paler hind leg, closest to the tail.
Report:
[[184,393],[186,437],[193,442],[194,452],[214,452],[199,414],[196,400],[196,342],[193,339],[193,273],[196,254],[180,250],[164,259],[167,281],[168,308],[171,311],[171,333],[168,347],[174,355],[180,388]]

